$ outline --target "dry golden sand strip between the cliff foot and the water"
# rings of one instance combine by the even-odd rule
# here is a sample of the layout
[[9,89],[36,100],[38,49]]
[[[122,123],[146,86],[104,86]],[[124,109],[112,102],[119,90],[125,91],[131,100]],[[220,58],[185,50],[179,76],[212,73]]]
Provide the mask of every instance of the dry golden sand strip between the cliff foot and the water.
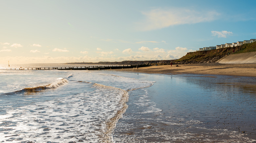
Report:
[[213,74],[256,77],[256,64],[200,63],[178,65],[158,65],[139,69],[117,69],[117,71],[160,73],[160,74]]

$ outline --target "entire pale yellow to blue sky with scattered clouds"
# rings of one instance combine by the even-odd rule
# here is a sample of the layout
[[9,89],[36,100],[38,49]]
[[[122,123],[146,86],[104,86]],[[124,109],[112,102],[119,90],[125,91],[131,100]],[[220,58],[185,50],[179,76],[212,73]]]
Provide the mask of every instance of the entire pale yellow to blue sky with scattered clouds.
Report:
[[0,64],[179,59],[256,39],[255,0],[1,0]]

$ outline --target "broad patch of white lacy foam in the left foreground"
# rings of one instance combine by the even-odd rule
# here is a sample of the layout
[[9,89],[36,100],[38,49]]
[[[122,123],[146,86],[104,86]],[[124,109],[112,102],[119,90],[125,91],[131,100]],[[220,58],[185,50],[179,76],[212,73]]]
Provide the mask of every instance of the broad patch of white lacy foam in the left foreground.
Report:
[[[35,142],[70,142],[79,139],[112,142],[112,130],[127,108],[125,103],[128,95],[115,87],[99,84],[94,87],[95,90],[90,93],[9,110],[0,118],[1,122],[11,121],[4,127],[8,135],[1,132],[0,141],[22,138],[23,141]],[[111,119],[113,121],[109,121]],[[112,125],[107,125],[110,122]],[[14,139],[12,142],[20,140]]]

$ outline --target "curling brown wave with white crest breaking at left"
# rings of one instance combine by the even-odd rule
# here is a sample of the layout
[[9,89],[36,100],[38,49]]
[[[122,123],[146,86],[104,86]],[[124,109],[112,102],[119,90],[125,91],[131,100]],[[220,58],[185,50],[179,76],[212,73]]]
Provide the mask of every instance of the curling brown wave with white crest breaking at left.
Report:
[[7,93],[7,94],[18,94],[18,93],[25,93],[25,94],[31,94],[31,93],[36,93],[36,92],[40,92],[46,89],[53,89],[53,88],[57,88],[60,87],[64,84],[68,83],[68,80],[65,78],[59,78],[56,82],[48,84],[48,85],[44,85],[44,86],[38,86],[38,87],[26,87],[11,93]]

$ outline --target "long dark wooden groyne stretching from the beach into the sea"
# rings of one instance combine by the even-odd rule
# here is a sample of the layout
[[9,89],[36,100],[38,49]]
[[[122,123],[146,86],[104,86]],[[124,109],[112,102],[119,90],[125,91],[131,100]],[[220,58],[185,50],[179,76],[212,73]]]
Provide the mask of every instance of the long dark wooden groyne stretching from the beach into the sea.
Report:
[[148,67],[151,65],[105,65],[105,66],[76,66],[76,67],[44,67],[44,68],[13,68],[14,70],[112,70]]

